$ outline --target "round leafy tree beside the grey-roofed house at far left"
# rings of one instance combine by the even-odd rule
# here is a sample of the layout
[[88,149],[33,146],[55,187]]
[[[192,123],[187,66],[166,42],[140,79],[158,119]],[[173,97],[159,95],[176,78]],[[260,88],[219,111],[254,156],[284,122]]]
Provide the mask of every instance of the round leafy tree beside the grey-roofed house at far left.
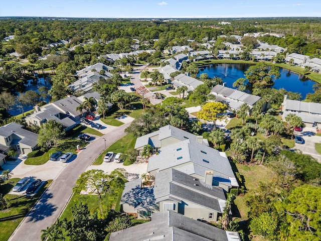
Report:
[[44,123],[39,130],[38,145],[42,150],[46,150],[53,146],[57,146],[64,136],[64,127],[55,120],[49,119],[49,121]]

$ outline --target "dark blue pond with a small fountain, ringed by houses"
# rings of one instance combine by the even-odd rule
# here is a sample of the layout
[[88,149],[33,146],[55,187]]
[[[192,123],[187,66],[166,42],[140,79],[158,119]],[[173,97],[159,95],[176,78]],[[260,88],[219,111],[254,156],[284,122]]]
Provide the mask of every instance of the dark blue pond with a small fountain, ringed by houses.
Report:
[[[211,64],[200,68],[200,76],[202,73],[207,73],[210,78],[219,77],[225,82],[225,86],[233,88],[233,83],[239,78],[245,78],[244,72],[251,64]],[[304,99],[307,93],[313,93],[312,85],[316,82],[297,74],[290,72],[288,69],[280,68],[281,77],[275,80],[272,88],[286,89],[287,91],[301,93]]]

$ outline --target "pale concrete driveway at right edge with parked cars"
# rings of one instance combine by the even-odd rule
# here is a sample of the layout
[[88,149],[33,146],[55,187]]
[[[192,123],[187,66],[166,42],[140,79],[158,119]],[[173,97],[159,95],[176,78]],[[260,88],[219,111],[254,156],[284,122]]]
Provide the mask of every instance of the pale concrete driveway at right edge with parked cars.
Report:
[[295,143],[293,149],[300,150],[303,154],[311,155],[321,163],[321,155],[315,150],[315,143],[321,143],[321,137],[315,136],[315,129],[305,127],[302,132],[294,132],[294,135],[301,136],[304,143]]

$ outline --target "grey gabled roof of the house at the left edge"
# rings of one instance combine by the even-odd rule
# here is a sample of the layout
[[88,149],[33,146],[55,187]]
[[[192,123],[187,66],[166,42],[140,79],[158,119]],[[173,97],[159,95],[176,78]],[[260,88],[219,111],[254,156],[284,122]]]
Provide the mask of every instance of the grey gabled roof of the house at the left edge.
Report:
[[21,138],[19,143],[25,144],[30,147],[37,146],[38,135],[36,133],[23,129],[23,127],[23,125],[12,122],[10,124],[0,127],[0,136],[6,138],[11,135],[16,135]]

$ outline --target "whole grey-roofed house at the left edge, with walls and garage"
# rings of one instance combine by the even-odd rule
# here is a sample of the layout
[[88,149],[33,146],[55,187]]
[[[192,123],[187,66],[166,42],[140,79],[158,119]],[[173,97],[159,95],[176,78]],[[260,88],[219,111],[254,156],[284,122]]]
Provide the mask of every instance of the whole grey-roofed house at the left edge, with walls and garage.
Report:
[[[38,135],[24,129],[23,125],[10,123],[0,127],[0,153],[10,150],[28,154],[37,149]],[[3,156],[0,156],[0,160]],[[0,165],[3,165],[0,161]]]

